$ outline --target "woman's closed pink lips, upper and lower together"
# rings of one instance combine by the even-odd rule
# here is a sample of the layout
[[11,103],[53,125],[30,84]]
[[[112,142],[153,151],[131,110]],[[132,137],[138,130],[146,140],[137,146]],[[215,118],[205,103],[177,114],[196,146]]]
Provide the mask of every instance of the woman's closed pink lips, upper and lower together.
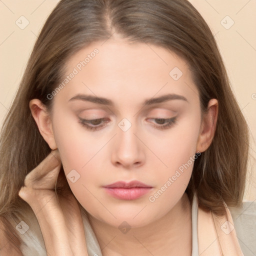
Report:
[[140,181],[130,182],[118,181],[103,186],[108,194],[122,200],[134,200],[148,193],[152,186],[146,185]]

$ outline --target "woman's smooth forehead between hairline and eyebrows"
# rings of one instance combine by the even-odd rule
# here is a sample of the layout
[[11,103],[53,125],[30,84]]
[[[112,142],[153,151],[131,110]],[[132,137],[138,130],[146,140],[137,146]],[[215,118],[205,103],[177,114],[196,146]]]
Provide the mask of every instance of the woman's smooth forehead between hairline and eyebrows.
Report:
[[198,100],[187,61],[169,49],[143,42],[93,42],[68,59],[65,75],[71,73],[75,75],[61,92],[66,99],[86,93],[128,104],[176,93]]

